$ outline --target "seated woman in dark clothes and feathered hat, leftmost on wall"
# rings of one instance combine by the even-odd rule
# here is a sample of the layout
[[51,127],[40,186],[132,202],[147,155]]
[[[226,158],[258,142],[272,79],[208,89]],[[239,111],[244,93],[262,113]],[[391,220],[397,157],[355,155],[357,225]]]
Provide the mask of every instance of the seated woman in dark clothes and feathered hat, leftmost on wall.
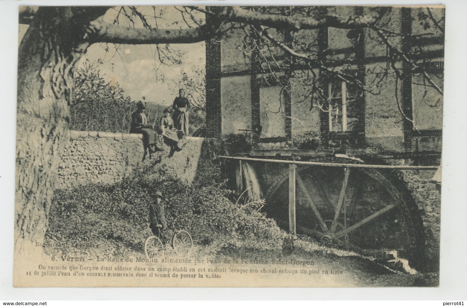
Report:
[[136,111],[131,114],[130,134],[143,135],[144,153],[146,155],[146,150],[149,150],[150,153],[155,153],[161,149],[157,147],[158,137],[156,137],[156,132],[147,126],[148,119],[143,114],[143,109],[145,108],[143,102],[139,101],[136,103]]

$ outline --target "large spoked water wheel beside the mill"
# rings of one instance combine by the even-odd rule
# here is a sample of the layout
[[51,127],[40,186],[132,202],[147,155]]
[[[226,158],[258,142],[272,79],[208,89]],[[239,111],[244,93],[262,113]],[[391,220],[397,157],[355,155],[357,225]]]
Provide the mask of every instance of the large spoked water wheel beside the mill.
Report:
[[[286,171],[266,194],[269,217],[289,219],[288,193]],[[368,254],[397,250],[414,264],[423,254],[423,224],[417,206],[390,172],[297,167],[296,223],[297,231]]]

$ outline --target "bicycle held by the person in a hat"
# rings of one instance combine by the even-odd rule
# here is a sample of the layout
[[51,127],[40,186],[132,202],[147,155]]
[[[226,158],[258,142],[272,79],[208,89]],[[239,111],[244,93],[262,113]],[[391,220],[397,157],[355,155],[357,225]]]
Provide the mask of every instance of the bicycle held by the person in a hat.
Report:
[[177,230],[172,221],[171,226],[167,229],[173,230],[170,236],[169,243],[163,244],[161,240],[161,231],[158,236],[151,235],[144,241],[144,253],[148,259],[161,256],[166,250],[167,246],[170,245],[177,255],[187,257],[191,254],[193,248],[193,239],[188,231]]

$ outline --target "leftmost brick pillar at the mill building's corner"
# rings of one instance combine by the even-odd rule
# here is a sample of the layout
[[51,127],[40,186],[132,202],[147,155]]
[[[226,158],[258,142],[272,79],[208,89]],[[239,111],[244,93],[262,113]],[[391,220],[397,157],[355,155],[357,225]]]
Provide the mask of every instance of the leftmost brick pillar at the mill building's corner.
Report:
[[[206,24],[212,22],[206,14]],[[206,40],[206,137],[221,136],[220,41]]]

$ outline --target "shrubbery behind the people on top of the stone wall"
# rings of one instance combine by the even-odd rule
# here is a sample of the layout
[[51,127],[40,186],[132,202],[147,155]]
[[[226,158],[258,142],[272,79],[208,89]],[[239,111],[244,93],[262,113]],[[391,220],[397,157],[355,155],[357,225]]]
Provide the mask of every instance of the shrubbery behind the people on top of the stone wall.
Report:
[[[194,71],[197,78],[183,73],[180,86],[186,88],[187,97],[193,108],[190,112],[190,131],[205,125],[204,70]],[[103,131],[128,133],[131,114],[136,110],[136,102],[125,95],[119,84],[111,85],[101,75],[99,68],[85,62],[75,74],[72,104],[70,108],[70,129],[80,131]],[[202,86],[203,85],[203,86]],[[175,90],[175,89],[174,89]],[[177,88],[178,90],[178,88]],[[143,97],[144,99],[144,97]],[[148,123],[160,122],[167,106],[146,101],[144,114]],[[158,127],[159,124],[156,124]]]

